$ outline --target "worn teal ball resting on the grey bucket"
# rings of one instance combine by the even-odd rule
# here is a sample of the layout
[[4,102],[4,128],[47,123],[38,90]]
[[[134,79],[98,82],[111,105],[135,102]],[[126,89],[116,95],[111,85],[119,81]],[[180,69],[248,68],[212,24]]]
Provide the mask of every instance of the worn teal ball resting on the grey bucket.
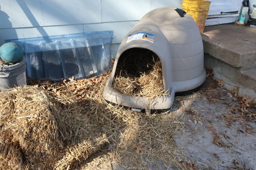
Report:
[[15,42],[8,42],[0,47],[0,57],[6,63],[16,63],[22,60],[23,55],[22,47]]

